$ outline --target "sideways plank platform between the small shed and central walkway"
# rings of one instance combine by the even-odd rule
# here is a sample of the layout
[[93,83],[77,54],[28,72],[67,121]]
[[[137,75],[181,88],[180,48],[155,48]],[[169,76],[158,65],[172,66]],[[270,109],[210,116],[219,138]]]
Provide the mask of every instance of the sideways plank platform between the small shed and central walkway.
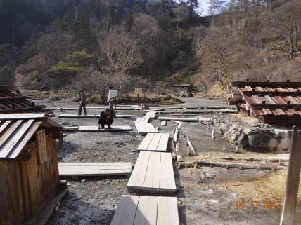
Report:
[[132,163],[58,163],[61,177],[127,176],[132,172]]

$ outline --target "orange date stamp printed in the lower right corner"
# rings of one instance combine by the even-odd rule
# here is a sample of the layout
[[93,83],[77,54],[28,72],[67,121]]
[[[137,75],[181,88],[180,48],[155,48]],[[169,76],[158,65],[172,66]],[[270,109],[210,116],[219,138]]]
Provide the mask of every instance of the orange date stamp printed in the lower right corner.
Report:
[[263,208],[265,211],[280,211],[281,205],[281,201],[275,200],[264,200],[263,202],[260,202],[259,200],[251,200],[250,203],[245,203],[244,200],[239,200],[236,202],[236,210],[245,211],[247,209],[250,209],[252,211],[257,211],[260,208]]

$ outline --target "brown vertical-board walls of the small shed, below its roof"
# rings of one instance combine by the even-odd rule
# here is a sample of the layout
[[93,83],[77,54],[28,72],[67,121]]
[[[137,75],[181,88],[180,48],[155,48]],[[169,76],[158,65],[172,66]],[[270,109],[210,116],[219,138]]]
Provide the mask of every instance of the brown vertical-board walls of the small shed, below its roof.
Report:
[[18,225],[37,214],[58,182],[56,139],[46,135],[48,159],[39,164],[37,143],[26,161],[0,161],[0,225]]

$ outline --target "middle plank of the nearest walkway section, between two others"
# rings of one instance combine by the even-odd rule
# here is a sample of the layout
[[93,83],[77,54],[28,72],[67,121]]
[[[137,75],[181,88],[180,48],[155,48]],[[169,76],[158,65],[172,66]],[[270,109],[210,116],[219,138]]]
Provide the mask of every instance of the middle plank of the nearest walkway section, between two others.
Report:
[[157,225],[158,197],[140,196],[134,225]]

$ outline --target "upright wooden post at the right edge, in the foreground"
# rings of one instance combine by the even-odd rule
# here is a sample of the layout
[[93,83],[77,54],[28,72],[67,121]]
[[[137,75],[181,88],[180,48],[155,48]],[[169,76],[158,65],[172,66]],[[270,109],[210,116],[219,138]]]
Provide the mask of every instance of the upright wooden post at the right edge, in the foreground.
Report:
[[298,197],[301,170],[301,131],[293,126],[290,161],[286,178],[286,196],[284,197],[280,225],[293,225]]

